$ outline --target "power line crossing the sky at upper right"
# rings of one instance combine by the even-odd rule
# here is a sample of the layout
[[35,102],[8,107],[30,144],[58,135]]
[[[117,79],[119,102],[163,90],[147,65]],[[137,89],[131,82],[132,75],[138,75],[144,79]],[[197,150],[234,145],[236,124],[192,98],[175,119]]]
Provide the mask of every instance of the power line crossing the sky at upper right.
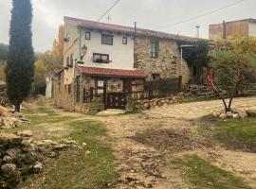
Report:
[[174,23],[172,25],[159,26],[159,27],[157,27],[155,29],[162,29],[162,28],[173,27],[173,26],[178,26],[178,25],[184,24],[184,23],[188,23],[188,22],[191,22],[191,21],[196,20],[198,18],[201,18],[201,17],[207,16],[209,14],[215,13],[217,11],[220,11],[220,10],[223,10],[223,9],[228,9],[230,7],[236,6],[236,5],[241,4],[241,3],[245,2],[245,1],[247,1],[247,0],[240,0],[238,2],[235,2],[233,4],[230,4],[228,6],[225,6],[225,7],[219,8],[219,9],[212,9],[212,10],[210,10],[210,11],[204,13],[204,14],[197,15],[197,16],[192,17],[190,19],[187,19],[187,20],[184,20],[184,21],[181,21],[181,22],[178,22],[178,23]]

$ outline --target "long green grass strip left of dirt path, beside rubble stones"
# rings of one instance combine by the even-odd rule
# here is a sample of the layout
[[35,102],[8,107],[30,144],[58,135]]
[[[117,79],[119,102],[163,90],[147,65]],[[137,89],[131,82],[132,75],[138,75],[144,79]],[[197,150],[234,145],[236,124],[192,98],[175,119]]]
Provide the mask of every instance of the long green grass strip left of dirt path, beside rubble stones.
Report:
[[[61,127],[69,129],[61,138],[70,137],[80,144],[86,143],[87,145],[81,149],[64,151],[57,159],[48,159],[44,173],[32,176],[19,187],[34,189],[112,188],[112,183],[119,175],[115,169],[113,149],[99,139],[108,138],[104,125],[91,120],[63,117],[46,109],[43,104],[40,106],[36,111],[26,111],[27,117],[31,119],[28,129],[46,132],[41,127],[42,122],[48,124],[48,127],[54,127],[51,123],[58,125],[61,123],[63,124]],[[52,136],[52,139],[58,140],[56,136]]]

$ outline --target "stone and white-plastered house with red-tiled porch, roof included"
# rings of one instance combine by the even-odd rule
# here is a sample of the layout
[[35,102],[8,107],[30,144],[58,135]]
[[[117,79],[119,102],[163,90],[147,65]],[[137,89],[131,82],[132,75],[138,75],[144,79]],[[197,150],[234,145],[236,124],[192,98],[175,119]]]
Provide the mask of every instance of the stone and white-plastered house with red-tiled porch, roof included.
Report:
[[145,82],[182,77],[190,68],[177,41],[198,39],[64,17],[64,69],[56,74],[57,107],[88,112],[92,101],[101,108],[124,108],[126,97],[145,97]]

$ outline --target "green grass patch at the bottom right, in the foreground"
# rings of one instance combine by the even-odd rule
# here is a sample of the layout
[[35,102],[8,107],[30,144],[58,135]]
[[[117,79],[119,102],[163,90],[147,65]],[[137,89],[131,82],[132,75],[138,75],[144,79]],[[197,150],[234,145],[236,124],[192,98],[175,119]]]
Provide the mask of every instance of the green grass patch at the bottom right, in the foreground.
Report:
[[232,173],[195,156],[184,156],[172,161],[174,168],[181,169],[192,188],[196,189],[248,189],[249,185]]

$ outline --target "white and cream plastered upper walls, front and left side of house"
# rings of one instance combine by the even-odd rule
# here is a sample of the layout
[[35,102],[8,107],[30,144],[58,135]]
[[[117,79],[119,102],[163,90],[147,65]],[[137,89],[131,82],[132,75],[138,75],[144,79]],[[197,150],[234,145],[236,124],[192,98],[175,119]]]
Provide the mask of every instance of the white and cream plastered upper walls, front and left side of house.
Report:
[[[68,43],[64,43],[64,66],[66,58],[73,54],[73,59],[80,60],[80,49],[83,44],[88,48],[87,54],[83,57],[84,66],[101,67],[134,70],[134,40],[133,36],[126,36],[125,34],[113,33],[113,45],[101,44],[101,31],[93,30],[91,32],[91,39],[85,40],[86,30],[81,32],[81,43],[79,40],[80,32],[77,26],[64,24],[64,35],[69,35]],[[122,37],[127,37],[127,44],[122,44]],[[76,40],[77,39],[77,40]],[[93,53],[108,54],[109,63],[93,62]],[[75,63],[74,63],[75,64]],[[74,68],[64,70],[64,85],[72,83],[74,78]]]

